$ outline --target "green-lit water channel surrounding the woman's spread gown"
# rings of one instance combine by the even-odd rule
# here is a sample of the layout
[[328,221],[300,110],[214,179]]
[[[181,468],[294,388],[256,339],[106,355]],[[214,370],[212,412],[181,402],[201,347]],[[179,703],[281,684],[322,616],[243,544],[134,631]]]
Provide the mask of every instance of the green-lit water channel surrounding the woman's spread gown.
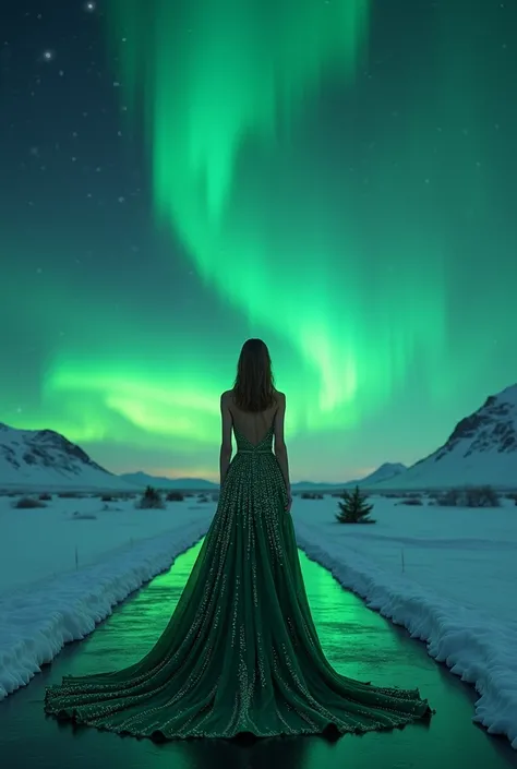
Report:
[[505,738],[489,737],[471,722],[472,689],[437,665],[425,646],[394,628],[344,590],[300,551],[311,611],[323,649],[341,674],[374,684],[419,687],[436,709],[431,724],[394,732],[321,737],[272,737],[252,744],[189,740],[155,745],[88,728],[59,724],[43,712],[44,686],[63,675],[124,668],[143,657],[165,629],[202,542],[172,567],[117,606],[84,641],[69,645],[29,687],[0,702],[0,749],[7,766],[39,769],[517,769],[517,752]]

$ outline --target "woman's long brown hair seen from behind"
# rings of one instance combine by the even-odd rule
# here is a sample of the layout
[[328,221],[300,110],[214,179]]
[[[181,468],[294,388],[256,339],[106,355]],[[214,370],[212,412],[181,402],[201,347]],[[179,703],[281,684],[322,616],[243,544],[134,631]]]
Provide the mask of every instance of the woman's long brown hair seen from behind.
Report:
[[236,406],[242,411],[265,411],[274,405],[272,359],[262,339],[248,339],[242,345],[232,393]]

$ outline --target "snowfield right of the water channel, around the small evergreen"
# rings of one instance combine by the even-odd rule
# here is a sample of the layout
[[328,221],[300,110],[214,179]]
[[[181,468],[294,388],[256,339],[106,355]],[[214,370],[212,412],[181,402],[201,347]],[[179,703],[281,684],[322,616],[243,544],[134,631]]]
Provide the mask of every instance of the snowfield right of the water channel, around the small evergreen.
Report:
[[300,501],[297,539],[476,686],[473,720],[517,749],[517,507],[402,507],[375,500],[375,526],[340,526],[336,501]]

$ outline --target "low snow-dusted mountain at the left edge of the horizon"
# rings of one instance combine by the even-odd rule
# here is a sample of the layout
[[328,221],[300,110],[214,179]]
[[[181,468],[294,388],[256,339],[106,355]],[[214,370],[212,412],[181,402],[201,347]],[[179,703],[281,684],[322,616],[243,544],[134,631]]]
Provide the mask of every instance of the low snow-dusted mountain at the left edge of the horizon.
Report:
[[0,423],[0,489],[127,489],[118,476],[53,430]]

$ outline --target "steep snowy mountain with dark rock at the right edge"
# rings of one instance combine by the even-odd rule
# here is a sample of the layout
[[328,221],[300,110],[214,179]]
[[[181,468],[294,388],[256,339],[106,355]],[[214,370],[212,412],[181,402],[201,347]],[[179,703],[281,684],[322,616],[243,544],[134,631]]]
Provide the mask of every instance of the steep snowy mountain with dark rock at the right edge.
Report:
[[383,488],[517,488],[517,384],[461,419],[443,446]]

